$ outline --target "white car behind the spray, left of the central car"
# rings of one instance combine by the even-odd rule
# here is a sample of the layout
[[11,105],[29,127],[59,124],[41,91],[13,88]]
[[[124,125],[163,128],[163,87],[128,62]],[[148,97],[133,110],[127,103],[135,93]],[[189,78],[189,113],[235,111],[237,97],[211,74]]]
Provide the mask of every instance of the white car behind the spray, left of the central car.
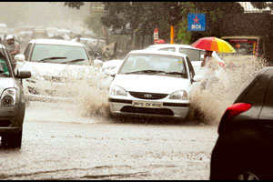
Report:
[[95,86],[97,79],[106,77],[92,66],[85,45],[72,41],[35,39],[29,42],[24,55],[15,59],[17,66],[31,69],[31,78],[23,83],[25,95],[31,99],[75,97],[85,90],[79,89],[81,84]]

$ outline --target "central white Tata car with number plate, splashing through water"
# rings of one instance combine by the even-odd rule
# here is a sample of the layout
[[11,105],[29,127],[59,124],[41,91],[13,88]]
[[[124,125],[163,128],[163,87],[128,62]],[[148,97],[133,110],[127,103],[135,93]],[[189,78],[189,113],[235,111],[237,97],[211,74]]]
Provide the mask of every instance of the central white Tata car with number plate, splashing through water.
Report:
[[131,51],[111,83],[110,113],[184,119],[195,81],[194,68],[185,54]]

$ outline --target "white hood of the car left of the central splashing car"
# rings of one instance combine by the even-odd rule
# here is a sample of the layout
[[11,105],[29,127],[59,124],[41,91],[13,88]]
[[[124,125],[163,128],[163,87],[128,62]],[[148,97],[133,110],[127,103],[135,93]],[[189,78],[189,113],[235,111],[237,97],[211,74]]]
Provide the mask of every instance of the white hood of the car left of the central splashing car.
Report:
[[81,77],[94,76],[97,74],[93,66],[79,66],[53,63],[27,62],[30,69],[35,70],[39,76],[61,76],[61,77]]

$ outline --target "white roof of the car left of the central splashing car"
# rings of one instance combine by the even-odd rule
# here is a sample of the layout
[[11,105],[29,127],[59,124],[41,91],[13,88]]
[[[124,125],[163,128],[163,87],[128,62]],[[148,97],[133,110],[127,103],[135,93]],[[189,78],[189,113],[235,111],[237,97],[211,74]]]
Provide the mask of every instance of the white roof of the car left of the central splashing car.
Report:
[[61,39],[33,39],[29,43],[32,44],[43,44],[43,45],[72,45],[72,46],[85,46],[81,43],[70,41],[70,40],[61,40]]

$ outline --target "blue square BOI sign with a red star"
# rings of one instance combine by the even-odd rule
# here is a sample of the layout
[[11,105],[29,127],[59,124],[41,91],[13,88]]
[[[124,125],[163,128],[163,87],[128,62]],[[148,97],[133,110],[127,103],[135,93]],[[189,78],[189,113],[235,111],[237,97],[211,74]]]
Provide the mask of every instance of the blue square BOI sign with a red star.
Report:
[[187,14],[187,31],[205,31],[205,14]]

